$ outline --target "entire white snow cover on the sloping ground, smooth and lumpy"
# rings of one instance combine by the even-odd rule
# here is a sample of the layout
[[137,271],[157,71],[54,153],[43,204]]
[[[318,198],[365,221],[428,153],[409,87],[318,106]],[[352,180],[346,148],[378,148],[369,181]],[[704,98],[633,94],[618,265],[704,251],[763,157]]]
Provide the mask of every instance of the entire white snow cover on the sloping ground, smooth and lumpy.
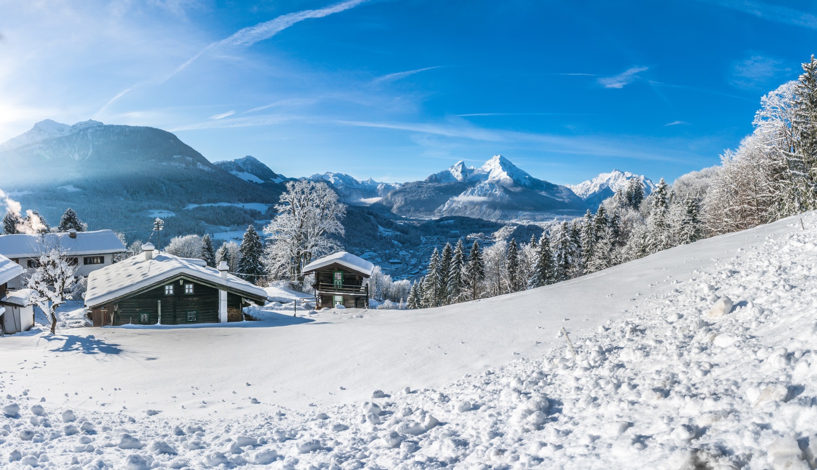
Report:
[[792,218],[427,311],[2,338],[0,456],[72,469],[814,468],[815,243]]

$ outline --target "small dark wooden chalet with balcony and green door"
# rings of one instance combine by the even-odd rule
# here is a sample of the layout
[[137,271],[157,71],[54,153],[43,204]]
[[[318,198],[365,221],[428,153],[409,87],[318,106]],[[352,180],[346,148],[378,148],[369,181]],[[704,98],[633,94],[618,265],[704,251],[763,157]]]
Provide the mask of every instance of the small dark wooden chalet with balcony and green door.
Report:
[[368,307],[368,285],[364,280],[372,276],[374,265],[362,257],[345,251],[316,259],[304,266],[305,275],[315,274],[316,308]]

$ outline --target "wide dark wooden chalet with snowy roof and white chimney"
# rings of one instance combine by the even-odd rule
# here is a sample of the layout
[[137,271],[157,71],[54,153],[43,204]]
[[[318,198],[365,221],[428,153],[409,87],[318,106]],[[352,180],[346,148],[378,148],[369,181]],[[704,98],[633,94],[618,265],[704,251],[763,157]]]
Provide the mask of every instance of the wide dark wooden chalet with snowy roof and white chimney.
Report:
[[242,308],[264,305],[266,291],[199,259],[145,253],[88,275],[85,307],[94,326],[189,325],[243,320]]

